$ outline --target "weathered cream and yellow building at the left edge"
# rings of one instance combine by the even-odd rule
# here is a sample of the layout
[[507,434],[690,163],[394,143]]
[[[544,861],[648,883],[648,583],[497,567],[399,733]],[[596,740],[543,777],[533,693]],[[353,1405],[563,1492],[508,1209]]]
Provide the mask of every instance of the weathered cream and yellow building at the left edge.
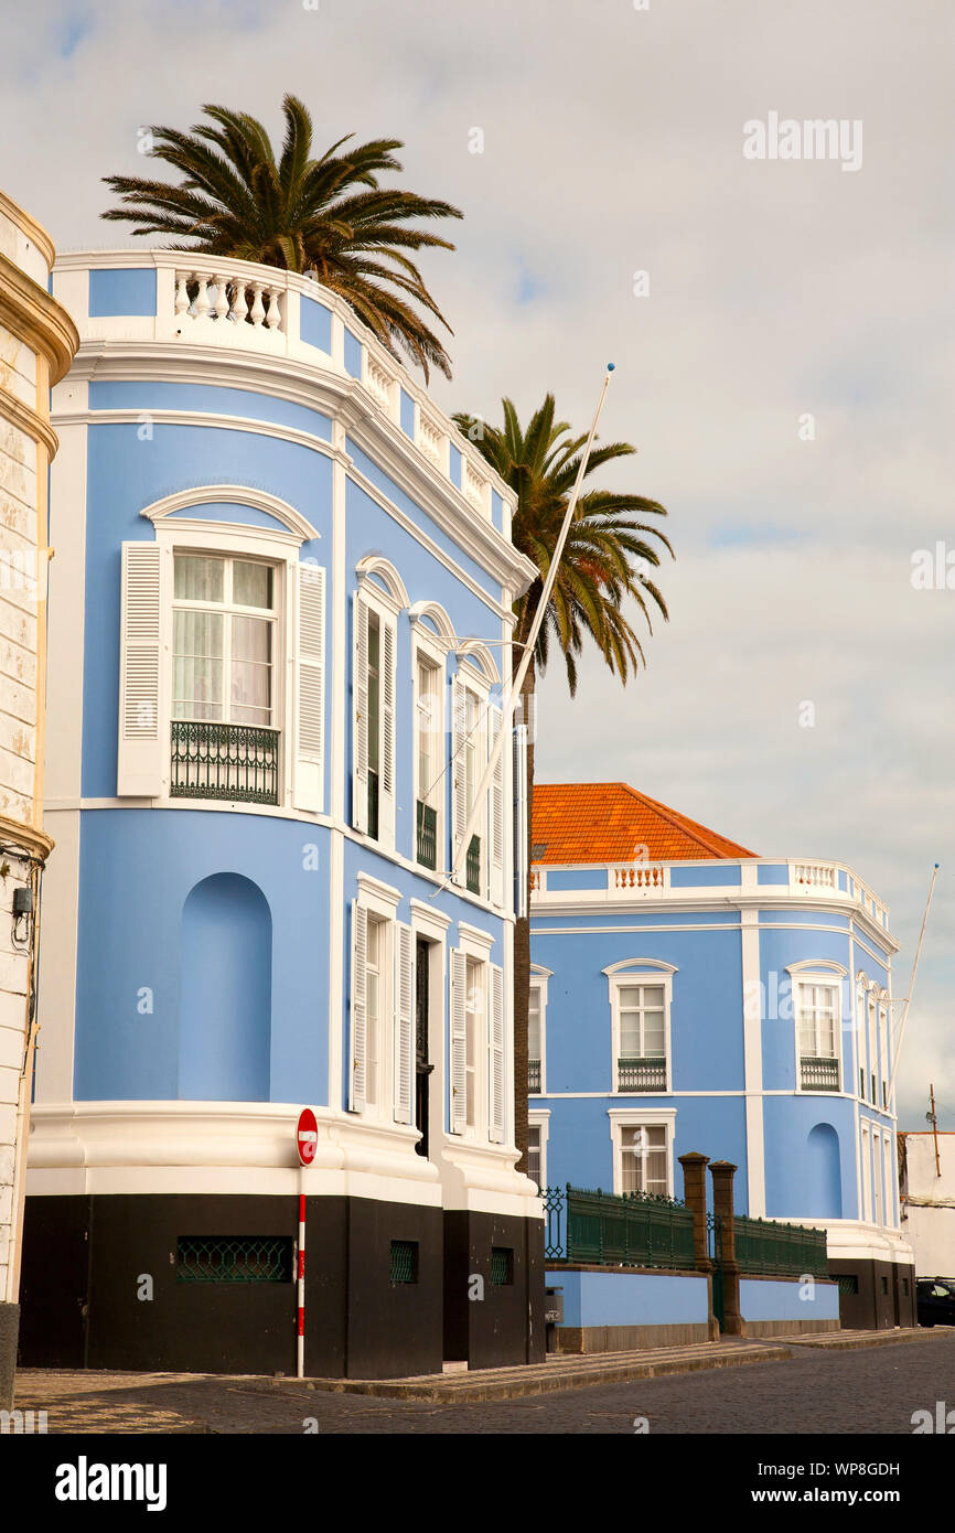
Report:
[[80,337],[49,235],[0,192],[0,1409],[17,1355],[43,832],[49,391]]

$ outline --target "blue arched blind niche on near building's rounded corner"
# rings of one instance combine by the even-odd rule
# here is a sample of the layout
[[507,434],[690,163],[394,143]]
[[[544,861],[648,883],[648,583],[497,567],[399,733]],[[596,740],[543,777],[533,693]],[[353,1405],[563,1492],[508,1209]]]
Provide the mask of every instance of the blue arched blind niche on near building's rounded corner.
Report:
[[179,1096],[267,1102],[271,912],[258,885],[213,874],[182,906]]

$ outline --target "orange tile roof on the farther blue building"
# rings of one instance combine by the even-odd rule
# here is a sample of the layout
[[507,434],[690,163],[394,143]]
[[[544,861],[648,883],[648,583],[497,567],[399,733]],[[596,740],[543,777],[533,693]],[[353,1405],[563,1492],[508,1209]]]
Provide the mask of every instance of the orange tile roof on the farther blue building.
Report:
[[570,865],[759,855],[625,782],[535,783],[532,846],[535,863]]

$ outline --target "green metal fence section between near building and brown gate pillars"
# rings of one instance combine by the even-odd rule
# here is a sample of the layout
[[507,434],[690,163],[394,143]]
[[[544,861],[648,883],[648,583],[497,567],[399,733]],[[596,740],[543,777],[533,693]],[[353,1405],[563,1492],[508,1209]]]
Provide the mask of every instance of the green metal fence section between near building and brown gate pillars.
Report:
[[693,1266],[693,1214],[671,1197],[601,1188],[544,1188],[544,1254],[599,1266]]

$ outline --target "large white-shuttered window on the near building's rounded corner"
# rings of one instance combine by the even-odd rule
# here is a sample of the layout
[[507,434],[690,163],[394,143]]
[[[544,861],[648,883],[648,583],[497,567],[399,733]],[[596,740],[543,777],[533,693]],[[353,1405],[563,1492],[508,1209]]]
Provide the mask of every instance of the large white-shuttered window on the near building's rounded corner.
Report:
[[123,544],[117,796],[317,812],[325,570],[300,532],[164,509],[185,498],[143,514],[155,541]]

